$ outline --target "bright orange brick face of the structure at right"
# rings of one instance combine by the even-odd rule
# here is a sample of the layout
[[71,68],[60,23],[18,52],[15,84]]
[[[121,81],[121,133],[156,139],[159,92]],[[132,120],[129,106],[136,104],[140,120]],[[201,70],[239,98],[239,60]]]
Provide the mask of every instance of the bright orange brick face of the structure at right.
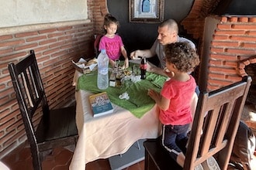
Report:
[[209,46],[207,89],[215,90],[241,80],[247,74],[244,67],[255,63],[255,47],[254,16],[221,16]]

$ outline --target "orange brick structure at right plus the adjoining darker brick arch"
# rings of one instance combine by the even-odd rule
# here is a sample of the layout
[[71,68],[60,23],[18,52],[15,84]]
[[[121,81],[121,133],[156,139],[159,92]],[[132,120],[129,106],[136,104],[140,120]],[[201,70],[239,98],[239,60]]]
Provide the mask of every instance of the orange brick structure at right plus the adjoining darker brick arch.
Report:
[[[201,83],[203,90],[216,90],[241,80],[247,74],[242,67],[253,63],[256,55],[256,17],[209,15],[220,1],[195,0],[191,12],[182,21],[188,34],[199,39],[199,79],[202,79],[199,82],[206,83],[206,87]],[[212,26],[207,27],[207,18],[212,18]],[[215,29],[212,35],[205,35],[209,27]]]

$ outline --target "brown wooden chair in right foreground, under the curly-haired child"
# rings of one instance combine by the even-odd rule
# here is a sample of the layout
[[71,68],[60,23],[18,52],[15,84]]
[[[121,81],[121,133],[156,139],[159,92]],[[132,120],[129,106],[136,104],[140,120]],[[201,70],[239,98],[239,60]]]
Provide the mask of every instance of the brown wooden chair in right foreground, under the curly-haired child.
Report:
[[[227,169],[250,85],[251,77],[245,76],[238,83],[200,93],[183,169],[194,169],[211,156],[220,169]],[[182,169],[159,140],[144,141],[144,148],[145,169]]]

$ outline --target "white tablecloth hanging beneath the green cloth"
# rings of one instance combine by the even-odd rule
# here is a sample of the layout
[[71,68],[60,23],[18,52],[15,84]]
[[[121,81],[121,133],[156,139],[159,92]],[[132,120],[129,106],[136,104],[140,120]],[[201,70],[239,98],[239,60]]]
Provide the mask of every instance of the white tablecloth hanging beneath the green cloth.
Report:
[[[77,82],[78,73],[74,75]],[[76,123],[78,143],[71,160],[71,170],[85,170],[85,164],[99,158],[109,158],[125,153],[134,142],[144,138],[157,138],[161,134],[158,107],[137,118],[128,110],[112,104],[114,112],[102,117],[92,117],[85,90],[75,93],[77,102]]]

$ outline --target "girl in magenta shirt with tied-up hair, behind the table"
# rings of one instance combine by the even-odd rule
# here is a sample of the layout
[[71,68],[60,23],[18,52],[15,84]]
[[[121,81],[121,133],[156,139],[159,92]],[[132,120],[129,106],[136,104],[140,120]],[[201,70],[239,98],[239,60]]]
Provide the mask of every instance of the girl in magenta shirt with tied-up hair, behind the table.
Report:
[[102,36],[99,42],[99,50],[106,49],[106,53],[109,56],[109,63],[112,67],[116,65],[115,60],[119,59],[121,55],[124,57],[123,69],[129,67],[129,60],[127,57],[126,49],[123,46],[122,38],[116,35],[119,22],[110,14],[107,14],[104,19],[105,36]]

